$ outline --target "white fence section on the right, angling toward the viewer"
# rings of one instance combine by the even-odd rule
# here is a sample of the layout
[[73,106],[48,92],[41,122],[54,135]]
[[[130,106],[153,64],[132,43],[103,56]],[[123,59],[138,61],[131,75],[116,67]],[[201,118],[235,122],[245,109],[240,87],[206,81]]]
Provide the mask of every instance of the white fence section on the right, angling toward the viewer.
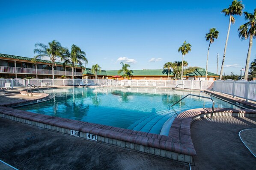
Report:
[[256,101],[256,81],[246,80],[217,80],[214,81],[215,92],[221,92],[222,94],[228,94],[235,97],[246,99],[246,101]]

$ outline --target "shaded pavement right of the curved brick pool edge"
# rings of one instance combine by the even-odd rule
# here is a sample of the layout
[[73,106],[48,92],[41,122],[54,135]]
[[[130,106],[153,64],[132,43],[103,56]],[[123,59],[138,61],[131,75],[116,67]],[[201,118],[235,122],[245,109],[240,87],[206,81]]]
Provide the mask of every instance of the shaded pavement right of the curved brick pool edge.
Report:
[[[256,170],[256,158],[244,146],[238,133],[256,128],[256,118],[215,116],[192,124],[191,137],[197,155],[193,170]],[[250,138],[250,141],[255,140]],[[256,146],[254,146],[256,147]]]

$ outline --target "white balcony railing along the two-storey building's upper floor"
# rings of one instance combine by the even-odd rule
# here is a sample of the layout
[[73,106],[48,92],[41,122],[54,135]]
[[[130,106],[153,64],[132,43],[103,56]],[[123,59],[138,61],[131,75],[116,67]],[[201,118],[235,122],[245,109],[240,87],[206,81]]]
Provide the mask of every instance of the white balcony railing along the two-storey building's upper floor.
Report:
[[[15,67],[0,66],[0,73],[17,73],[17,74],[36,75],[36,72],[37,72],[38,75],[52,75],[52,70],[48,70],[48,69],[30,69],[30,68],[16,67],[16,72],[15,72]],[[54,70],[54,75],[68,75],[68,76],[71,76],[72,72]],[[82,73],[81,72],[74,72],[74,76],[82,76]]]

